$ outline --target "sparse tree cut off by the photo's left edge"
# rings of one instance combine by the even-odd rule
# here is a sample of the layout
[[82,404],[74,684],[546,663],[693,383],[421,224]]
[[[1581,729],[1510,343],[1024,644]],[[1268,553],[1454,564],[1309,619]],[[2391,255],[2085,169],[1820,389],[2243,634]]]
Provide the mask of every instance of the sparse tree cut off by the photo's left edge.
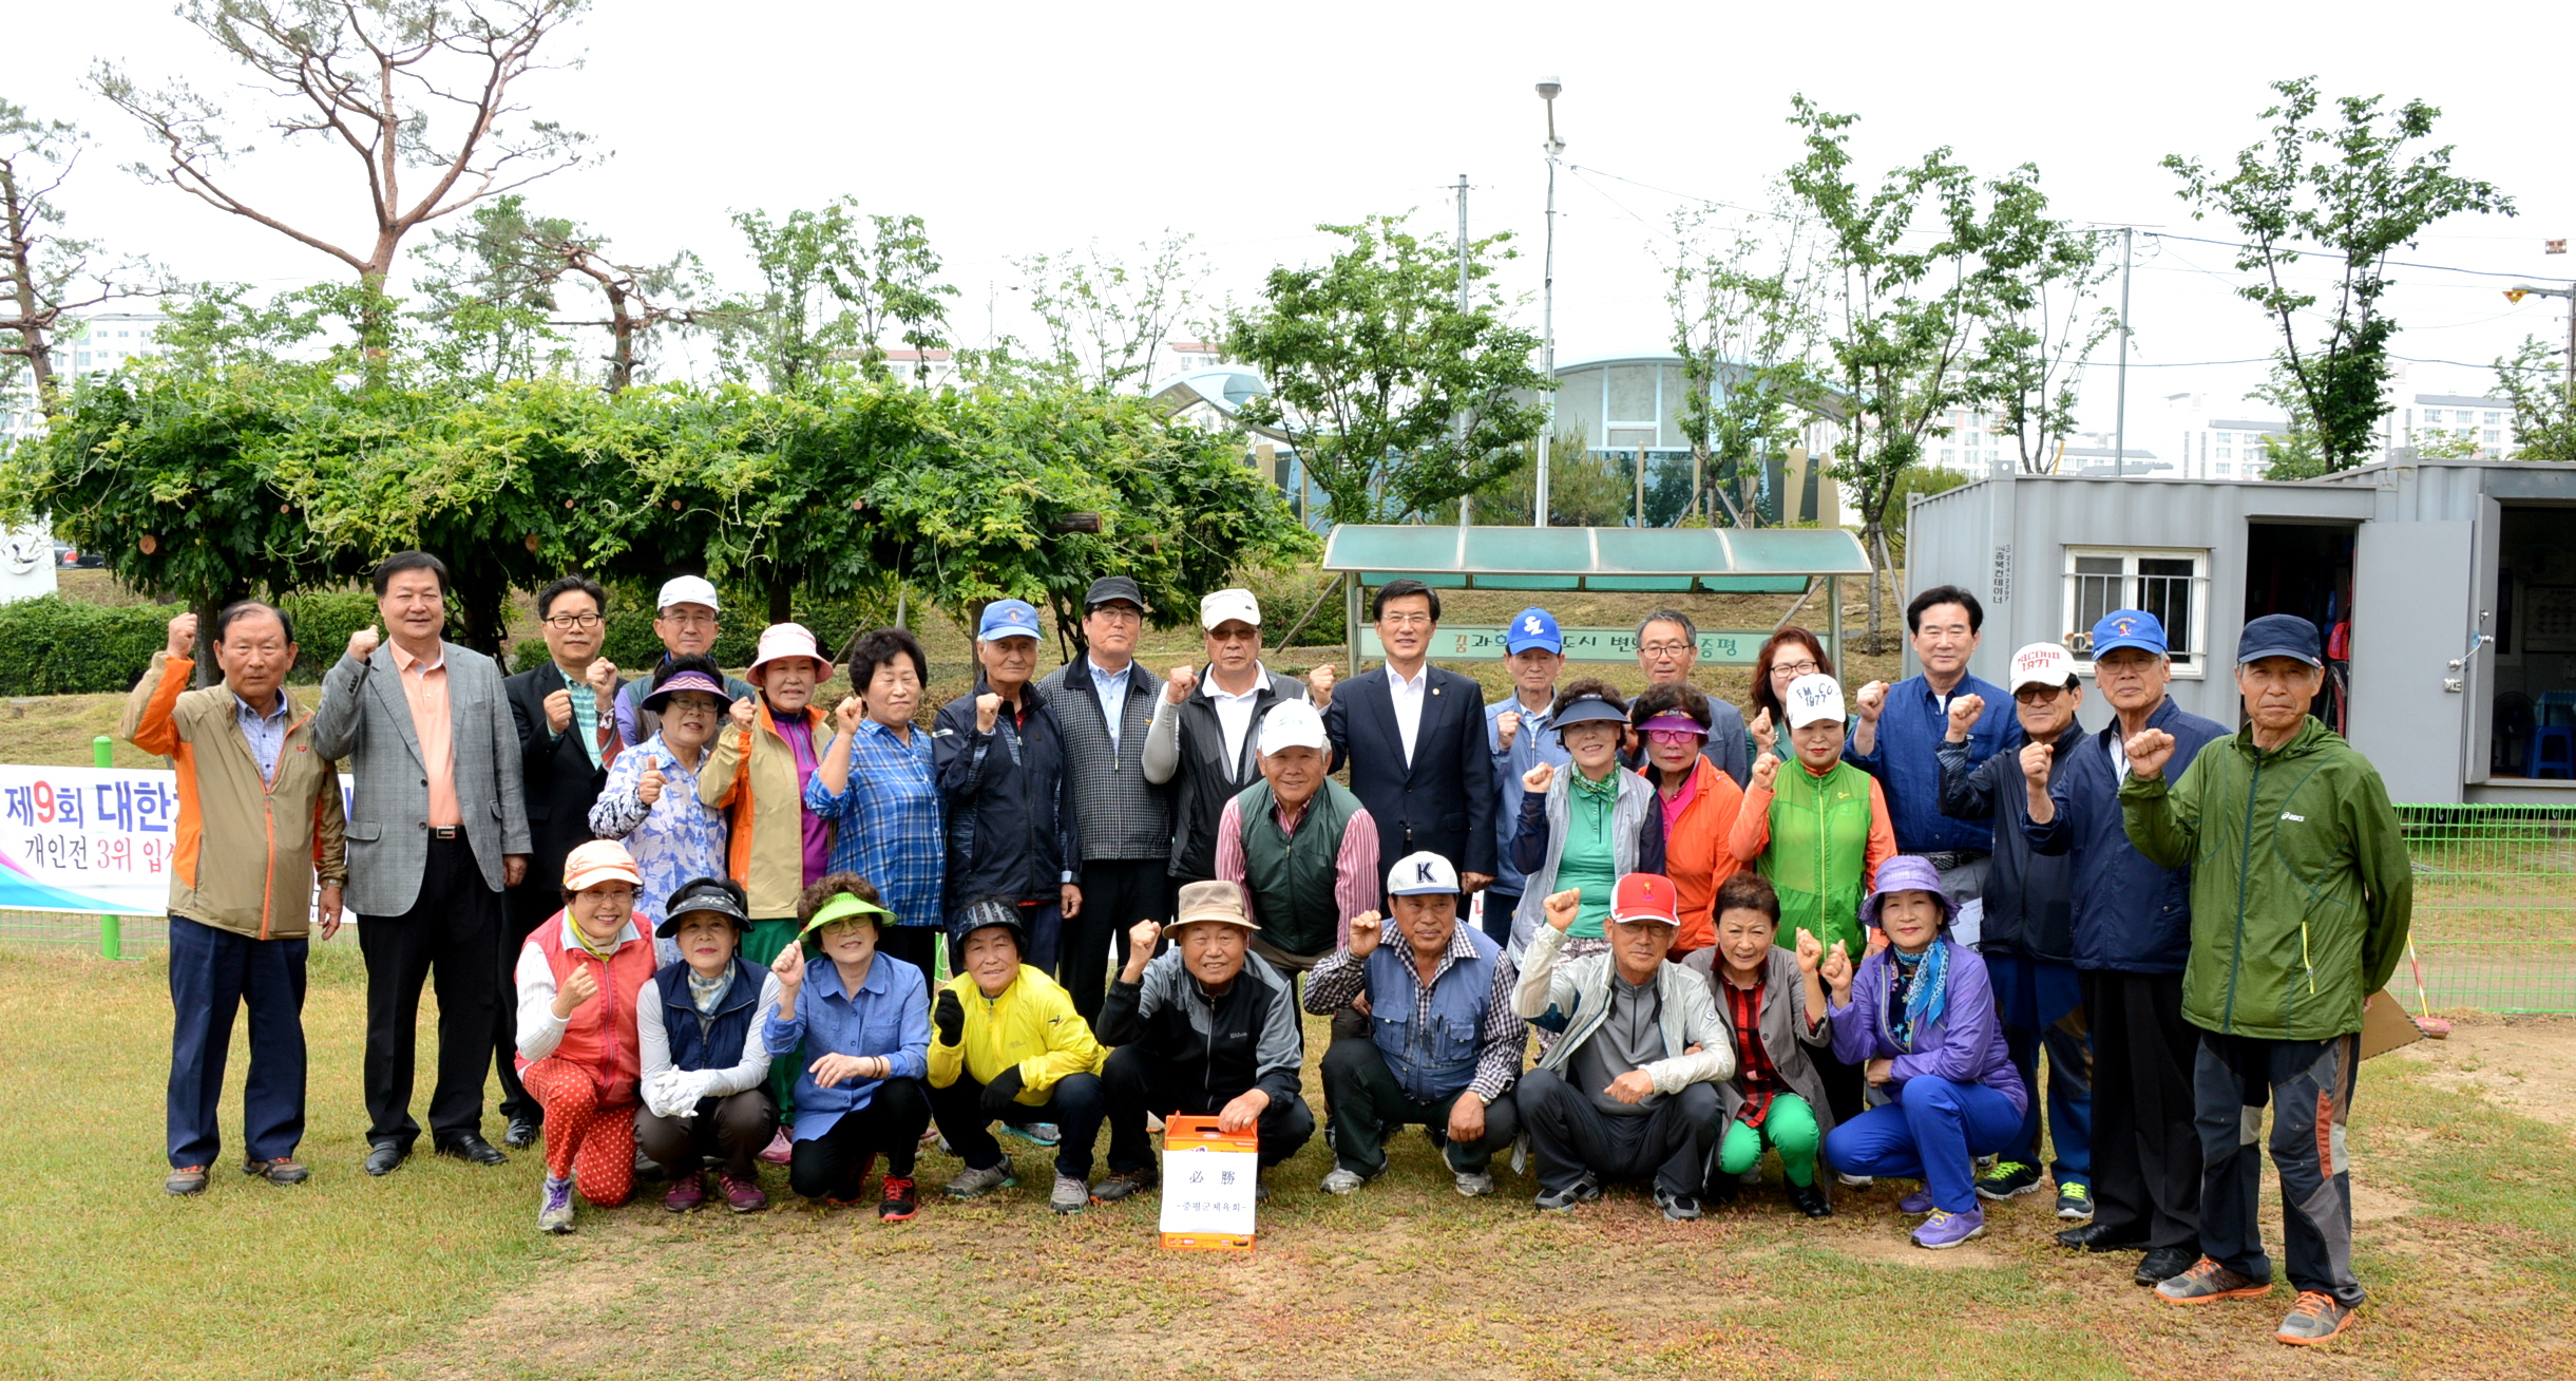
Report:
[[18,392],[18,374],[33,381],[36,407],[54,417],[54,343],[64,312],[100,307],[157,289],[142,260],[108,258],[98,240],[70,240],[54,196],[72,180],[85,144],[80,129],[41,121],[23,106],[0,100],[0,394]]

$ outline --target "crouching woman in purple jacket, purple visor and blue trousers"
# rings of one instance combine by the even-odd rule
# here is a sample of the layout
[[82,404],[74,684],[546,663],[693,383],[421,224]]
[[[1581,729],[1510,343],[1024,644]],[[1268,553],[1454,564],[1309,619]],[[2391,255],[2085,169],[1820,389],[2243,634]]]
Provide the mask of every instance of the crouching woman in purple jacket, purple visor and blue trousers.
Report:
[[[1950,938],[1958,907],[1940,889],[1927,858],[1899,855],[1878,866],[1878,889],[1860,904],[1860,922],[1886,946],[1870,948],[1852,974],[1842,948],[1824,951],[1808,984],[1832,984],[1834,1056],[1860,1064],[1888,1095],[1878,1108],[1834,1126],[1824,1159],[1844,1175],[1922,1180],[1896,1206],[1929,1214],[1914,1244],[1958,1247],[1986,1234],[1976,1203],[1976,1157],[2002,1152],[2022,1126],[2022,1080],[1994,1015],[1986,961]],[[1816,940],[1798,935],[1806,951]]]

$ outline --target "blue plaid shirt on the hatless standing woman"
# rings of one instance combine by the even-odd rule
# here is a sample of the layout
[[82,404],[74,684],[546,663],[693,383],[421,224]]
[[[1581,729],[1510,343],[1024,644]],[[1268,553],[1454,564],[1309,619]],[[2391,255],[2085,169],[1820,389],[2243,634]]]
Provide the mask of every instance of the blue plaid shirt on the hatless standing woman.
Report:
[[850,734],[850,786],[835,796],[814,773],[806,809],[832,822],[832,871],[873,881],[896,925],[948,920],[940,907],[948,830],[927,729],[914,724],[907,745],[894,729],[860,719]]

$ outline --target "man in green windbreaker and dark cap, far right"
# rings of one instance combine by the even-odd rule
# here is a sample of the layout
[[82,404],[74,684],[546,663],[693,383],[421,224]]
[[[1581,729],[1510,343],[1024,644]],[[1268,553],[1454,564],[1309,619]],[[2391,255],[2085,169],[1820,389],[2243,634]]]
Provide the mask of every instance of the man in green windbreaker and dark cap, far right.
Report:
[[2396,971],[2414,912],[2414,871],[2378,768],[2308,716],[2324,675],[2316,624],[2254,618],[2236,644],[2246,729],[2202,747],[2177,783],[2164,781],[2174,739],[2146,729],[2128,739],[2120,786],[2138,853],[2192,866],[2182,1015],[2200,1028],[2200,1262],[2156,1293],[2208,1304],[2272,1291],[2254,1152],[2272,1103],[2298,1288],[2272,1337],[2293,1345],[2334,1337],[2362,1304],[2344,1118],[2362,1005]]

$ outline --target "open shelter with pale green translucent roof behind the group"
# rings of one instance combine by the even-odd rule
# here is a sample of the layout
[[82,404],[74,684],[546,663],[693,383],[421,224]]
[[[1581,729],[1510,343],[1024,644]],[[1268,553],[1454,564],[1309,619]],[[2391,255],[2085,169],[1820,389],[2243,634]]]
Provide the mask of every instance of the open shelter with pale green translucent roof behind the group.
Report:
[[[1342,572],[1350,670],[1383,657],[1365,624],[1365,590],[1419,580],[1440,590],[1600,590],[1672,595],[1824,593],[1824,642],[1842,660],[1842,580],[1870,577],[1860,538],[1844,528],[1435,528],[1345,523],[1324,538],[1324,569]],[[1535,600],[1543,603],[1543,600]],[[1790,618],[1783,618],[1788,624]],[[1700,662],[1749,667],[1772,629],[1700,629]],[[1636,629],[1561,629],[1566,660],[1633,662]],[[1502,626],[1440,624],[1432,657],[1502,657]]]

